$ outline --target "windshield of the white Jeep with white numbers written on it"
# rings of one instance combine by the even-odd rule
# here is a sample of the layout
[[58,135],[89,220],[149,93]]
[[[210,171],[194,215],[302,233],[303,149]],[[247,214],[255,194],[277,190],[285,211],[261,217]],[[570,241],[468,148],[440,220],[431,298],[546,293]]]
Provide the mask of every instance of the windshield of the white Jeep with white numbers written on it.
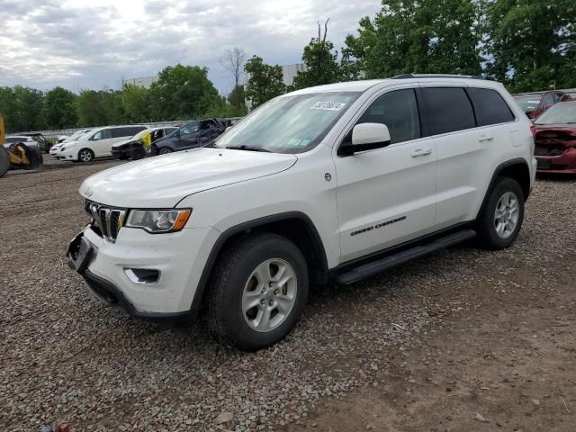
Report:
[[215,142],[217,148],[302,153],[316,147],[359,93],[284,96],[259,107]]

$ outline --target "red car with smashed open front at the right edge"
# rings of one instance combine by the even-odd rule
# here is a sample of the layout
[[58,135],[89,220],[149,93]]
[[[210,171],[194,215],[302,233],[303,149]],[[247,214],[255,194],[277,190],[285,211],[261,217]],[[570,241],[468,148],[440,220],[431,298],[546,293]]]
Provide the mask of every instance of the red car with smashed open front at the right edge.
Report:
[[576,174],[576,102],[556,103],[534,129],[537,172]]

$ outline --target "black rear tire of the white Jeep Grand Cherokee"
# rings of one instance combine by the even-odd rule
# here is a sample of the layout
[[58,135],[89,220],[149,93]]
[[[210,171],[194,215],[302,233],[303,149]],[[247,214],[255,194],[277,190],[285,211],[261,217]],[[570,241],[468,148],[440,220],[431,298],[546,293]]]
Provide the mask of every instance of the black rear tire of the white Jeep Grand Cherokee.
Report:
[[[510,195],[510,193],[512,195]],[[501,228],[502,223],[496,219],[496,210],[499,204],[500,208],[502,205],[508,208],[505,202],[500,202],[500,200],[506,201],[506,196],[513,197],[516,202],[518,202],[518,220],[513,229],[505,229],[502,234],[499,234],[498,229]],[[520,184],[513,178],[499,177],[491,189],[488,201],[479,218],[478,240],[480,246],[491,250],[509,247],[518,237],[518,232],[520,232],[520,228],[522,228],[523,220],[524,193],[522,192]],[[509,227],[509,225],[506,226]]]

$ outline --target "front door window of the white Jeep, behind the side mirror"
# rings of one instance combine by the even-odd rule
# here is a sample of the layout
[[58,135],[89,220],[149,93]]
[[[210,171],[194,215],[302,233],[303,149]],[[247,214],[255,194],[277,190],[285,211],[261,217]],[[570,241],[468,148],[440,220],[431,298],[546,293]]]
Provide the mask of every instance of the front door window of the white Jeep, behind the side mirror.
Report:
[[383,123],[391,142],[420,138],[420,117],[416,94],[411,88],[395,90],[378,97],[356,123]]

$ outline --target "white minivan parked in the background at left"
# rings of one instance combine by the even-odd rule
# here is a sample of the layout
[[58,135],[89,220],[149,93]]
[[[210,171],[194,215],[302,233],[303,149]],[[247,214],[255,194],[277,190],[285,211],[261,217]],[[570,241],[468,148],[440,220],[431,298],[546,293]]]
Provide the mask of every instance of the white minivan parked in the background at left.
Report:
[[94,157],[110,157],[114,143],[129,139],[145,129],[145,126],[139,125],[96,128],[77,141],[60,147],[58,159],[91,162]]

